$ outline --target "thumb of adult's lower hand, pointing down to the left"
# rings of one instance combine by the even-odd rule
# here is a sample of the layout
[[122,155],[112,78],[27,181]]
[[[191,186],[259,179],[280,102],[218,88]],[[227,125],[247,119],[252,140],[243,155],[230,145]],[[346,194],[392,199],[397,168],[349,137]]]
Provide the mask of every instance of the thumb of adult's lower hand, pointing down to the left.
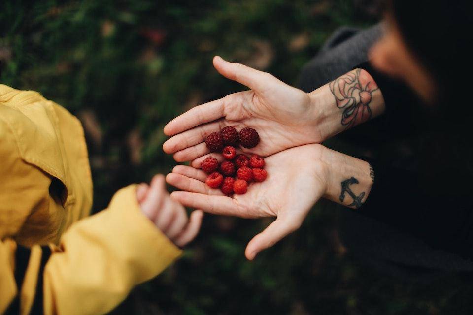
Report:
[[296,218],[278,217],[263,232],[257,234],[248,243],[245,250],[245,256],[248,260],[253,260],[256,255],[279,242],[286,235],[294,232],[301,226],[301,222]]

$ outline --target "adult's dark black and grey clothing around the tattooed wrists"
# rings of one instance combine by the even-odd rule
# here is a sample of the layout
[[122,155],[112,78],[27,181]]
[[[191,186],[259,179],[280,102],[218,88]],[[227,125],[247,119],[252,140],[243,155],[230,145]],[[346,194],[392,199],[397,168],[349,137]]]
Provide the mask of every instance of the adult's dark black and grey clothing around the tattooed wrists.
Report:
[[365,204],[340,210],[343,240],[371,264],[404,275],[473,271],[473,176],[467,171],[472,157],[464,129],[445,126],[403,82],[366,63],[380,34],[379,25],[361,32],[342,29],[300,78],[310,92],[361,67],[385,99],[384,115],[338,136],[357,148],[346,153],[365,156],[375,173]]

